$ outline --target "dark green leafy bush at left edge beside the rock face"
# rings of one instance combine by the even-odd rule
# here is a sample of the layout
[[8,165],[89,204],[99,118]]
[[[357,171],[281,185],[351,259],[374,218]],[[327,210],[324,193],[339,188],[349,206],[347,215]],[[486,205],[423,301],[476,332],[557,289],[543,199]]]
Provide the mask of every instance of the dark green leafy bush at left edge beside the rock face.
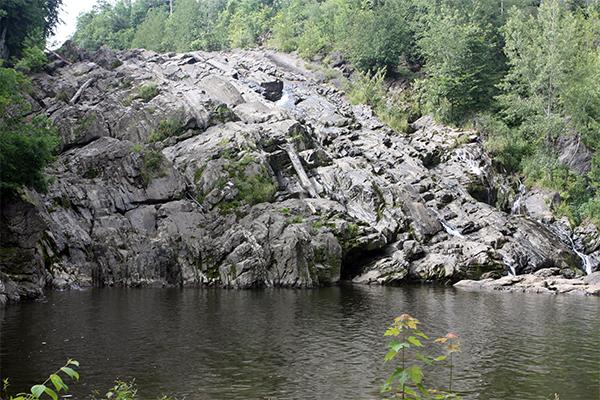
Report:
[[27,84],[20,72],[0,67],[0,192],[48,189],[44,167],[54,161],[57,130],[45,115],[29,114],[20,94]]

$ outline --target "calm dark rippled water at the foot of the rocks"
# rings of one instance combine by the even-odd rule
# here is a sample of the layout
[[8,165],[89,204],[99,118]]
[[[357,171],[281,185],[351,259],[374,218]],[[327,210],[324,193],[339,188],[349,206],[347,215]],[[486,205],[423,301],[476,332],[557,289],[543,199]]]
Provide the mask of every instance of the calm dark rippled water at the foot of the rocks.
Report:
[[[0,375],[14,395],[71,357],[76,399],[117,378],[142,399],[378,399],[383,333],[403,313],[459,336],[463,399],[600,399],[599,298],[439,287],[50,292],[0,310]],[[445,368],[425,374],[447,387]]]

